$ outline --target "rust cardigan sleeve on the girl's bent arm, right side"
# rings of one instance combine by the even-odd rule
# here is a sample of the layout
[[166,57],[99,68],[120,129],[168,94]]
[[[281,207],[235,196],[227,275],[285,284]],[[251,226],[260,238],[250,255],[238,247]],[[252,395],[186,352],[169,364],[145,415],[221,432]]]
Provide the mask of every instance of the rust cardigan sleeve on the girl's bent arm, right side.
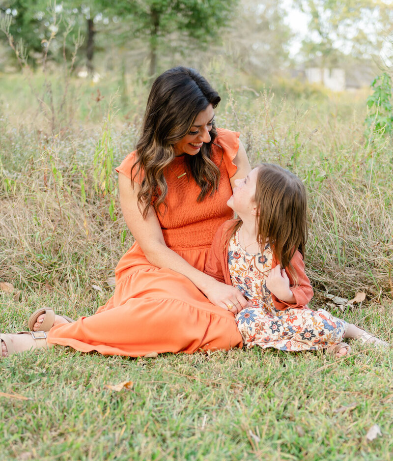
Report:
[[273,304],[275,305],[276,309],[280,311],[283,311],[288,308],[303,309],[304,307],[306,307],[307,303],[311,300],[312,296],[314,295],[309,278],[307,277],[305,272],[303,256],[299,251],[296,250],[295,254],[293,255],[293,258],[291,259],[291,264],[295,269],[296,275],[298,277],[297,285],[295,285],[295,281],[286,269],[285,272],[289,278],[290,288],[293,295],[295,296],[295,302],[293,304],[286,303],[278,299],[272,293]]

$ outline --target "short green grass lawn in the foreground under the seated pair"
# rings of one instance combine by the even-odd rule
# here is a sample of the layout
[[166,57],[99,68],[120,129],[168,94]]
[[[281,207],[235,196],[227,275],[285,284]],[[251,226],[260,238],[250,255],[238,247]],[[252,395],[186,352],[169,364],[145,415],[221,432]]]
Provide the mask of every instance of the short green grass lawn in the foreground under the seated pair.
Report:
[[[353,317],[386,337],[392,308]],[[2,325],[25,328],[10,295],[0,312]],[[393,353],[352,345],[343,360],[259,348],[156,359],[62,347],[12,356],[0,362],[0,390],[29,400],[0,397],[0,459],[389,460]],[[122,381],[132,389],[104,387]],[[367,443],[374,424],[382,436]]]

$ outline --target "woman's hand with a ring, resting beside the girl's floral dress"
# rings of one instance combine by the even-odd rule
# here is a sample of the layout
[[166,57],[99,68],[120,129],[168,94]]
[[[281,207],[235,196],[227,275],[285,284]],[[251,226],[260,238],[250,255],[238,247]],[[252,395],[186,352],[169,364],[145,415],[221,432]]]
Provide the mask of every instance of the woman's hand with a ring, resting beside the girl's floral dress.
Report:
[[251,301],[247,301],[237,288],[218,282],[212,277],[203,291],[211,303],[235,315],[242,309],[251,306]]

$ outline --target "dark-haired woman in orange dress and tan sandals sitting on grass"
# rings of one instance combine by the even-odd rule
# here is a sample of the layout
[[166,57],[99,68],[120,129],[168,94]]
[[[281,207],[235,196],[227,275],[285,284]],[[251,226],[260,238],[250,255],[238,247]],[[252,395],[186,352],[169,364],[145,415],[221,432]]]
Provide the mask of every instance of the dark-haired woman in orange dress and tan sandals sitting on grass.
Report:
[[215,232],[232,217],[232,185],[251,171],[239,134],[215,127],[219,102],[193,69],[155,80],[136,151],[116,170],[136,241],[116,267],[113,296],[76,322],[36,311],[32,334],[1,335],[3,356],[54,344],[132,357],[242,346],[234,314],[248,302],[203,273]]

